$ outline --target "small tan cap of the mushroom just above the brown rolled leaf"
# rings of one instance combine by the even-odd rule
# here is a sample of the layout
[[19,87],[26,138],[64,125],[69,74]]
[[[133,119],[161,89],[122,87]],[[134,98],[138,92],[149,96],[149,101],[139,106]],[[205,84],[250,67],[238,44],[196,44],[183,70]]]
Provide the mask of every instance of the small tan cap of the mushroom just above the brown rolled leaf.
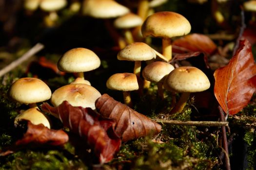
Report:
[[138,90],[138,78],[133,73],[116,73],[110,76],[106,83],[112,90],[133,91]]

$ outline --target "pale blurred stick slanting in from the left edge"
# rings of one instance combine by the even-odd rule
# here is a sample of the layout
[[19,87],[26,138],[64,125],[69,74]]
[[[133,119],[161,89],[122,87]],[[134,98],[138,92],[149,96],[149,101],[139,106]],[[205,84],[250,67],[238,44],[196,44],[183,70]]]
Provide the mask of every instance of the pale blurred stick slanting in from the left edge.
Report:
[[19,66],[22,62],[29,59],[31,56],[33,56],[34,54],[36,54],[38,51],[42,50],[43,48],[44,48],[43,44],[37,43],[34,47],[32,47],[32,49],[30,49],[29,51],[24,53],[20,58],[13,61],[12,63],[10,63],[8,66],[2,68],[0,70],[0,77],[3,76],[4,74],[8,73],[12,69],[16,68],[17,66]]

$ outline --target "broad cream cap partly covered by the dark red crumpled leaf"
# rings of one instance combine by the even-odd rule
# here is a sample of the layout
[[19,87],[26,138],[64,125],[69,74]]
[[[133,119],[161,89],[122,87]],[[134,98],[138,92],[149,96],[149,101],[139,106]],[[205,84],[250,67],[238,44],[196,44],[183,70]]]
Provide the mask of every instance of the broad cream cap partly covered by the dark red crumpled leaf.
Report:
[[63,101],[72,106],[91,107],[95,109],[95,102],[101,96],[96,88],[85,84],[64,85],[52,94],[51,103],[59,106]]

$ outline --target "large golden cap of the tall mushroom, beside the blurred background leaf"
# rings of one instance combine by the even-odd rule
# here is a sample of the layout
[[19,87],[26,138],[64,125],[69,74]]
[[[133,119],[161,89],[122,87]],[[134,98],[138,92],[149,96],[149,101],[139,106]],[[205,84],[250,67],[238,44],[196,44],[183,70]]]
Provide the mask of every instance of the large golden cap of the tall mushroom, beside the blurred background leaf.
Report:
[[172,38],[190,33],[191,25],[182,15],[163,11],[147,17],[141,27],[143,37],[152,35],[155,37]]

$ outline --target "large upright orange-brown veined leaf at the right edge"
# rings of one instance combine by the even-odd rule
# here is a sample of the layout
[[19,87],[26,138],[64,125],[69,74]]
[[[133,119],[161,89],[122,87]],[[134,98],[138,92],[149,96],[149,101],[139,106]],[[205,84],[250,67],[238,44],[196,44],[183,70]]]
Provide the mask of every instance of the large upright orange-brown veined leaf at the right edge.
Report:
[[229,64],[214,73],[214,93],[225,113],[234,115],[250,102],[256,89],[256,64],[248,40],[240,41]]

